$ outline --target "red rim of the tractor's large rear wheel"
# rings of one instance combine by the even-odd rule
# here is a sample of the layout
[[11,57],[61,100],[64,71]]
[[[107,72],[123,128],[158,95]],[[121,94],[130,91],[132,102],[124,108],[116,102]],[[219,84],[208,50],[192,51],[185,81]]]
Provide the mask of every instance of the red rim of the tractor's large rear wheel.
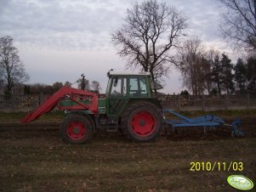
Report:
[[140,137],[147,137],[156,130],[156,119],[146,111],[136,113],[132,118],[131,124],[134,133]]

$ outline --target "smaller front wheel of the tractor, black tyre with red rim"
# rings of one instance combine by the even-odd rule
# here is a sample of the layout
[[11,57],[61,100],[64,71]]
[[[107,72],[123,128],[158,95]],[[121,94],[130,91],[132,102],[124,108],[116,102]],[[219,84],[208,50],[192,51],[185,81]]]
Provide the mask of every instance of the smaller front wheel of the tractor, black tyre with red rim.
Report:
[[60,127],[61,138],[66,144],[85,144],[93,138],[94,127],[89,116],[71,114]]

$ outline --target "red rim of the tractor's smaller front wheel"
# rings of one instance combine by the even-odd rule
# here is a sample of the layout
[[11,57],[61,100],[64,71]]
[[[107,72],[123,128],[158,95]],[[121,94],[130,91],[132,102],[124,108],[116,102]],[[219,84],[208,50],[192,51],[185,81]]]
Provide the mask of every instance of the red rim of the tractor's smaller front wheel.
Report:
[[86,127],[82,125],[82,122],[71,122],[69,127],[67,127],[67,135],[72,140],[80,140],[86,134]]

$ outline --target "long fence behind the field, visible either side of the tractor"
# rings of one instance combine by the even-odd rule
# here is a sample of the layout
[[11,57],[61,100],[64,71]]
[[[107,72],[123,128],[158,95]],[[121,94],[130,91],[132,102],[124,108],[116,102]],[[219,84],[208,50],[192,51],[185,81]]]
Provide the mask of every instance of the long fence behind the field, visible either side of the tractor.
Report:
[[[31,111],[50,95],[0,95],[0,111]],[[256,109],[256,94],[242,95],[161,95],[163,108],[173,110]]]

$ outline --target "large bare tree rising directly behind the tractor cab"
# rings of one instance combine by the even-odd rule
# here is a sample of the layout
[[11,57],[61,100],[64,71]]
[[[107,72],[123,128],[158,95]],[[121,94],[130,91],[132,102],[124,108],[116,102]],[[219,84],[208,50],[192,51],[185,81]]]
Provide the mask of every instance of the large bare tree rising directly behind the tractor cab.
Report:
[[146,0],[128,9],[125,23],[112,34],[118,54],[128,59],[128,67],[149,71],[151,79],[165,76],[184,37],[186,18],[174,7],[156,0]]

